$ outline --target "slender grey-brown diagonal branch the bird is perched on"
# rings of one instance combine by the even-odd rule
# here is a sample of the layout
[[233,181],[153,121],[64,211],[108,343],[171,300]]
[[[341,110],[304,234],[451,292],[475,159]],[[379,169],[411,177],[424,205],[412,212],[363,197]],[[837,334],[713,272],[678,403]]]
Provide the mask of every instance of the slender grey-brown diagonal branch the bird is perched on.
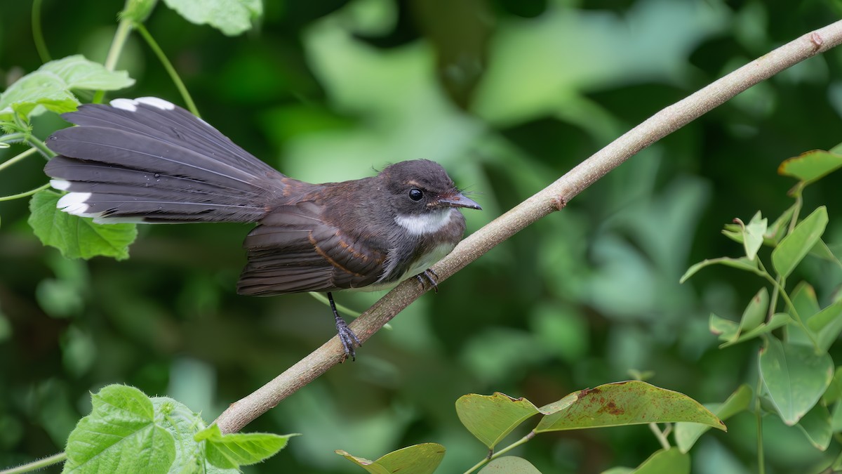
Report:
[[[434,272],[440,277],[440,281],[445,280],[526,226],[561,210],[579,192],[643,148],[684,127],[754,84],[808,57],[828,51],[839,43],[842,43],[842,20],[802,35],[797,40],[749,62],[684,100],[659,111],[578,164],[552,185],[466,237],[456,245],[456,249],[450,255],[434,265]],[[424,294],[424,291],[419,288],[415,278],[409,278],[377,301],[350,326],[357,337],[360,337],[360,341],[365,342],[397,313]],[[287,396],[324,374],[333,365],[342,362],[343,357],[344,352],[338,337],[333,337],[268,384],[233,403],[216,418],[215,423],[219,425],[222,433],[239,431],[254,418],[268,412]]]

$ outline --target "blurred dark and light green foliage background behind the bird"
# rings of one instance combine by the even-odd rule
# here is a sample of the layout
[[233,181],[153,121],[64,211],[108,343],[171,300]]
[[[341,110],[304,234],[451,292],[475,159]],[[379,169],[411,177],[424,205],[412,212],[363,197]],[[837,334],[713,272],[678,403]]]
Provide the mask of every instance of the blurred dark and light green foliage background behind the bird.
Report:
[[[483,211],[466,212],[472,232],[664,106],[838,19],[840,5],[269,0],[256,29],[232,38],[162,3],[147,28],[203,118],[243,148],[312,181],[434,159],[477,192]],[[103,61],[120,8],[44,0],[52,57]],[[40,66],[30,10],[0,4],[2,89]],[[120,68],[137,79],[121,96],[181,103],[138,36]],[[247,471],[360,472],[333,450],[376,459],[427,441],[448,450],[441,472],[465,471],[486,454],[456,417],[466,393],[542,405],[627,380],[629,370],[702,402],[756,385],[759,341],[719,350],[707,318],[737,319],[762,282],[727,268],[678,280],[695,261],[739,255],[722,224],[757,210],[775,218],[790,205],[794,180],[776,174],[783,159],[842,141],[839,78],[840,49],[803,62],[482,256],[398,315],[355,363],[251,423],[245,431],[303,436]],[[45,138],[64,125],[45,114],[35,130]],[[42,167],[32,157],[4,170],[0,194],[42,185]],[[807,210],[829,206],[831,242],[842,234],[840,186],[837,173],[806,197]],[[62,450],[103,385],[172,396],[210,421],[334,334],[329,310],[306,294],[235,294],[248,225],[146,226],[128,261],[67,261],[40,245],[27,217],[26,200],[0,202],[0,467]],[[800,277],[820,302],[840,281],[815,261]],[[379,296],[337,298],[364,310]],[[727,424],[691,451],[694,472],[756,470],[754,417]],[[838,444],[821,453],[776,417],[764,429],[767,472],[819,471],[838,454]],[[636,426],[541,434],[516,453],[546,473],[590,473],[637,466],[658,447]]]

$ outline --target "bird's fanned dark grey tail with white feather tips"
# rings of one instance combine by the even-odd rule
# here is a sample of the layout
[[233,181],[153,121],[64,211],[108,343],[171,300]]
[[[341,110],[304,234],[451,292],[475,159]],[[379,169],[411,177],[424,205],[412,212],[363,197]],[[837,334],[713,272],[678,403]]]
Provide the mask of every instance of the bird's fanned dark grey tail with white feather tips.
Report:
[[[63,117],[44,171],[58,207],[108,222],[256,222],[290,178],[166,100],[118,99]],[[296,181],[297,182],[297,181]],[[288,192],[289,190],[287,190]]]

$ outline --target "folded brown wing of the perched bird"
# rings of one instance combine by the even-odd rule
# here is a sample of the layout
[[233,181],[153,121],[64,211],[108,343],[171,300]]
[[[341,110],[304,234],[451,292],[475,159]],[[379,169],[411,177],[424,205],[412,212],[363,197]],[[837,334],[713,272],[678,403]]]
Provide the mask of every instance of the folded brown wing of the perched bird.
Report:
[[322,207],[275,208],[248,234],[248,265],[237,293],[272,295],[360,288],[380,277],[386,249],[372,248],[322,220]]

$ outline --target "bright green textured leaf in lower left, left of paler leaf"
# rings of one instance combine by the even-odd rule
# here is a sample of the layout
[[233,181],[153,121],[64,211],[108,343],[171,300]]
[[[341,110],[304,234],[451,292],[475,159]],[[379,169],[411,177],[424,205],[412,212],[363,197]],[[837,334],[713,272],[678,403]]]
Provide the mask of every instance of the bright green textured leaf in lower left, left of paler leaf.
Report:
[[91,397],[93,410],[67,439],[62,472],[166,472],[175,442],[155,423],[152,401],[125,385],[108,385]]

